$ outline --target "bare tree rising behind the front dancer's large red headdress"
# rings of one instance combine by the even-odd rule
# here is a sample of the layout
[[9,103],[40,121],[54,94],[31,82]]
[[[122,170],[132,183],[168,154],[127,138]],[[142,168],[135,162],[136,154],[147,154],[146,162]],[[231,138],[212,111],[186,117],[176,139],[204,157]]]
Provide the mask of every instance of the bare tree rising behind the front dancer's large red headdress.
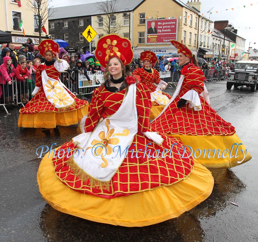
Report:
[[101,32],[103,34],[119,33],[122,28],[122,22],[117,21],[119,14],[117,13],[116,0],[97,2],[97,5],[99,12],[103,15],[98,17],[98,19],[103,19],[103,29]]

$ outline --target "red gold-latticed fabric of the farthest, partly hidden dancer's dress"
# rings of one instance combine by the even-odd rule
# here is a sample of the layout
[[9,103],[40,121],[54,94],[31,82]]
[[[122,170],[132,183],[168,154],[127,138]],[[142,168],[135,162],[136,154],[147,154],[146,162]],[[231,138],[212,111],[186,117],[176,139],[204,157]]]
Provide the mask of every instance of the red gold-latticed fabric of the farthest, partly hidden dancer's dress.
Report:
[[[161,79],[157,70],[152,68],[151,70],[152,73],[148,73],[143,68],[136,68],[133,74],[140,77],[140,82],[146,85],[150,92],[155,92],[157,87],[153,83],[159,84]],[[162,94],[167,96],[169,99],[171,98],[171,96],[165,92],[162,92]]]

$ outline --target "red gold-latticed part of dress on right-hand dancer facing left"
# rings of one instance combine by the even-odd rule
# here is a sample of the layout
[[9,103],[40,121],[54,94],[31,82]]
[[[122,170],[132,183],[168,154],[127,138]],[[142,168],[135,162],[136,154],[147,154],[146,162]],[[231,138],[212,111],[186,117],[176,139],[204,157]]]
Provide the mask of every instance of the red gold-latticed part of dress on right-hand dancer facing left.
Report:
[[155,119],[150,126],[164,134],[181,135],[232,135],[235,128],[223,120],[209,104],[199,96],[202,103],[202,110],[195,111],[186,104],[182,108],[177,108],[177,103],[187,91],[195,90],[201,94],[204,90],[203,72],[191,66],[189,69],[182,69],[185,74],[179,95],[169,105],[169,107]]

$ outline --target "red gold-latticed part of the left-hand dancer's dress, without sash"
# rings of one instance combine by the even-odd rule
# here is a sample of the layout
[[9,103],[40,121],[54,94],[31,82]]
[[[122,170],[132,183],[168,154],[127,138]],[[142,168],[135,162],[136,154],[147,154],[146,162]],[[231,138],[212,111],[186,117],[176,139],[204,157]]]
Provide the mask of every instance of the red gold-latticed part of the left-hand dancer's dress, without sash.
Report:
[[[37,112],[58,112],[58,109],[54,107],[50,102],[48,102],[43,86],[42,86],[42,78],[41,78],[41,72],[42,72],[42,66],[38,66],[36,70],[36,86],[40,89],[38,90],[37,94],[28,102],[25,107],[21,108],[19,112],[21,114],[30,114],[30,113],[37,113]],[[45,66],[44,66],[45,67]],[[58,77],[60,75],[60,72],[56,70],[54,65],[46,66],[45,68],[47,76],[50,78],[53,78],[55,80],[58,80]],[[87,105],[87,101],[81,100],[77,98],[73,93],[69,92],[69,94],[73,97],[75,100],[75,107],[71,106],[69,110],[66,112],[77,110],[85,105]]]

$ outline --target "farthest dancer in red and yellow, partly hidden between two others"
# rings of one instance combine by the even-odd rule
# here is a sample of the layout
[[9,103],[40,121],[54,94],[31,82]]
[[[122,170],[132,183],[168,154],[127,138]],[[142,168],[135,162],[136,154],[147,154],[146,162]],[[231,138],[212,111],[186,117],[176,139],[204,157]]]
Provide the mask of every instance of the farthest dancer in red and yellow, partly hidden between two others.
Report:
[[150,120],[153,120],[160,114],[171,96],[161,91],[167,87],[167,83],[161,81],[157,70],[150,68],[150,65],[155,64],[158,59],[156,54],[153,51],[146,50],[140,54],[140,58],[144,64],[143,68],[136,68],[133,75],[137,75],[140,82],[150,90],[152,101]]

